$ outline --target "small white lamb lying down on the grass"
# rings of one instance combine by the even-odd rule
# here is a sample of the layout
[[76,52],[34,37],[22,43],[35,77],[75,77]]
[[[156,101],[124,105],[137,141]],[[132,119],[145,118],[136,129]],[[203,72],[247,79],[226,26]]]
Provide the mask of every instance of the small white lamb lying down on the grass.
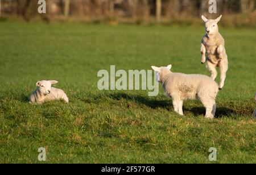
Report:
[[38,81],[36,82],[37,89],[30,96],[30,103],[42,104],[46,101],[64,100],[69,102],[67,95],[63,90],[51,87],[57,84],[57,81]]

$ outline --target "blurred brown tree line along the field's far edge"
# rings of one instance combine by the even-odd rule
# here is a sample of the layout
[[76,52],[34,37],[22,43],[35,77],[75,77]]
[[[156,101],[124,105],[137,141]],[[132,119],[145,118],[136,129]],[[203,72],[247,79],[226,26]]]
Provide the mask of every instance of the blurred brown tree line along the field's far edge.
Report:
[[[46,0],[47,15],[85,18],[179,18],[207,14],[209,0]],[[255,12],[255,0],[216,0],[218,14]],[[31,18],[38,14],[36,0],[0,0],[0,15]]]

